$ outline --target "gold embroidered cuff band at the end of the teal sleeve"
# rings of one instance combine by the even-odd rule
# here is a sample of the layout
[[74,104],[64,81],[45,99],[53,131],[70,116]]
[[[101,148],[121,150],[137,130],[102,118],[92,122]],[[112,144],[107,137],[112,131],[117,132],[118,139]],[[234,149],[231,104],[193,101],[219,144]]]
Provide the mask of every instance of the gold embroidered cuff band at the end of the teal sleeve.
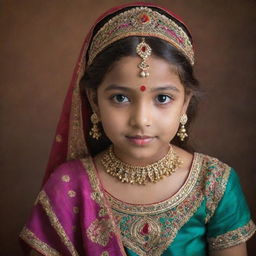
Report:
[[215,238],[209,238],[209,246],[212,250],[222,250],[240,243],[246,242],[256,231],[256,226],[252,220],[246,225],[236,230],[229,231]]

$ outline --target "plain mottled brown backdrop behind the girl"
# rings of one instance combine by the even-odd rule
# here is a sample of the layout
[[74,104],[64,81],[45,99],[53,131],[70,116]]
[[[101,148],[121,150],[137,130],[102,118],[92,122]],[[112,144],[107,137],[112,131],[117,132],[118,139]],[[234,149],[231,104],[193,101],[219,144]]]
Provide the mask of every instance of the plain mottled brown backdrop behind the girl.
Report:
[[[0,255],[21,255],[18,233],[38,193],[83,38],[103,11],[129,1],[0,1]],[[240,175],[256,217],[254,0],[151,1],[183,17],[206,91],[191,137]],[[250,255],[256,239],[249,242]],[[254,254],[255,255],[255,254]]]

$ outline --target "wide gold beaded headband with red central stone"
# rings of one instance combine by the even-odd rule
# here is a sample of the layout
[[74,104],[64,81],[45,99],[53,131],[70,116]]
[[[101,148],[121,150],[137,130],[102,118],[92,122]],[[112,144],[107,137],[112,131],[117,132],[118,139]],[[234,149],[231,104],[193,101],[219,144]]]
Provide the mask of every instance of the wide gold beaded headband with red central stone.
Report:
[[194,50],[186,32],[170,18],[148,7],[135,7],[110,19],[93,37],[88,65],[110,44],[128,36],[161,38],[178,48],[194,64]]

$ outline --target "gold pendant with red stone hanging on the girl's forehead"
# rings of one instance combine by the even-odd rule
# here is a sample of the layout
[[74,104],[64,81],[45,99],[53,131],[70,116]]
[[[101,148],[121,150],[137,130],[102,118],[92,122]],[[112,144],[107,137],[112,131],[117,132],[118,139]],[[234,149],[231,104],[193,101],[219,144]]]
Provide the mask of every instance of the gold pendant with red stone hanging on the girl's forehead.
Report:
[[151,55],[151,47],[145,42],[145,38],[142,38],[142,42],[139,43],[136,47],[137,54],[142,58],[142,62],[138,65],[142,71],[140,72],[141,77],[148,77],[149,76],[149,65],[146,62],[147,58]]

